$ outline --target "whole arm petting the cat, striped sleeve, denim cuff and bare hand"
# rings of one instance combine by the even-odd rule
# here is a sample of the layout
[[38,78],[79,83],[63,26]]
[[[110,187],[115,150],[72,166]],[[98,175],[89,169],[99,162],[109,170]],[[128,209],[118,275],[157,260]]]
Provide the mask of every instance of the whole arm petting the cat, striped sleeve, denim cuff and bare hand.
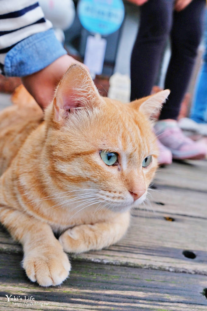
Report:
[[52,100],[68,67],[77,63],[66,54],[38,2],[1,0],[0,73],[23,77],[25,87],[42,108]]

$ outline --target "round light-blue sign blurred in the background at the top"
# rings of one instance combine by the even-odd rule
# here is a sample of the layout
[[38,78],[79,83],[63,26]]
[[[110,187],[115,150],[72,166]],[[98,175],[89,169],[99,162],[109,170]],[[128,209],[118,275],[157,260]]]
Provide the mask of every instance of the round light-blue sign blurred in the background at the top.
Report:
[[77,10],[82,26],[94,34],[110,35],[124,19],[122,0],[79,0]]

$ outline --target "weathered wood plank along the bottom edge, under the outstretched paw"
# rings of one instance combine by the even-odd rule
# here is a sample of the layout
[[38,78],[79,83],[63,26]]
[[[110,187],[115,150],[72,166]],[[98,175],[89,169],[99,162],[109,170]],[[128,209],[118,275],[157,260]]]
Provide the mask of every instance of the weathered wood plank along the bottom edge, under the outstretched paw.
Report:
[[186,311],[207,306],[201,295],[206,276],[72,262],[70,278],[61,287],[41,288],[27,280],[19,261],[19,255],[0,255],[0,310],[14,310],[8,294],[23,299],[32,295],[36,302],[49,304],[40,310]]

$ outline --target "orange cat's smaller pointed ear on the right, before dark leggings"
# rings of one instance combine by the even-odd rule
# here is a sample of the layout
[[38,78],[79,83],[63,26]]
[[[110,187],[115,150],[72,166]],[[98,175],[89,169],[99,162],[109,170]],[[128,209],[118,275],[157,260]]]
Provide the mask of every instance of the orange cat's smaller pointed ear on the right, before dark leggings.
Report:
[[155,119],[156,115],[160,112],[162,105],[170,94],[169,90],[160,91],[154,95],[150,95],[139,100],[134,100],[129,105],[138,109],[141,113],[145,114],[148,119]]

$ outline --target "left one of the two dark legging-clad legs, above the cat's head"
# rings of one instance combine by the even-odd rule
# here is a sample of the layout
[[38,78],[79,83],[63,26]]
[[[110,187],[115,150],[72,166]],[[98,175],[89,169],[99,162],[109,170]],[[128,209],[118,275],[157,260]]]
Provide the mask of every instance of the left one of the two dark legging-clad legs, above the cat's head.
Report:
[[171,30],[173,0],[149,0],[142,7],[131,56],[131,100],[150,95]]

